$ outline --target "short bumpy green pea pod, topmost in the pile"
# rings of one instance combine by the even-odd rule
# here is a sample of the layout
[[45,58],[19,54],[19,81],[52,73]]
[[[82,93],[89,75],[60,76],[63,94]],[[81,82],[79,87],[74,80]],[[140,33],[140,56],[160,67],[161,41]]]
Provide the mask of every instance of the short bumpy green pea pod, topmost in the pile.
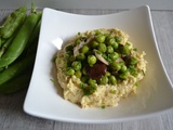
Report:
[[10,38],[21,27],[26,18],[26,6],[21,6],[6,17],[4,24],[0,28],[0,36],[2,38]]

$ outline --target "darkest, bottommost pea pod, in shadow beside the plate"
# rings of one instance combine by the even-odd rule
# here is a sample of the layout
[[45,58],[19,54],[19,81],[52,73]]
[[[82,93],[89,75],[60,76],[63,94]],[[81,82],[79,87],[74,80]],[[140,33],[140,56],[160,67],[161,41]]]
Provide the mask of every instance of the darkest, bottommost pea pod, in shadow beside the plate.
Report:
[[0,93],[11,94],[18,92],[28,87],[31,77],[31,72],[22,74],[18,77],[11,79],[9,82],[0,86]]

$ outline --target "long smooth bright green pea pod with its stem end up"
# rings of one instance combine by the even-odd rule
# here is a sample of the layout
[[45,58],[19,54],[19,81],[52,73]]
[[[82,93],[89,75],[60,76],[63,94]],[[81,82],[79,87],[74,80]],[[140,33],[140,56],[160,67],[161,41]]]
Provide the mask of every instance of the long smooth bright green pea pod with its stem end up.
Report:
[[16,37],[14,38],[6,52],[2,55],[2,57],[0,57],[0,68],[6,67],[22,54],[37,25],[37,22],[38,14],[30,13],[16,34]]

